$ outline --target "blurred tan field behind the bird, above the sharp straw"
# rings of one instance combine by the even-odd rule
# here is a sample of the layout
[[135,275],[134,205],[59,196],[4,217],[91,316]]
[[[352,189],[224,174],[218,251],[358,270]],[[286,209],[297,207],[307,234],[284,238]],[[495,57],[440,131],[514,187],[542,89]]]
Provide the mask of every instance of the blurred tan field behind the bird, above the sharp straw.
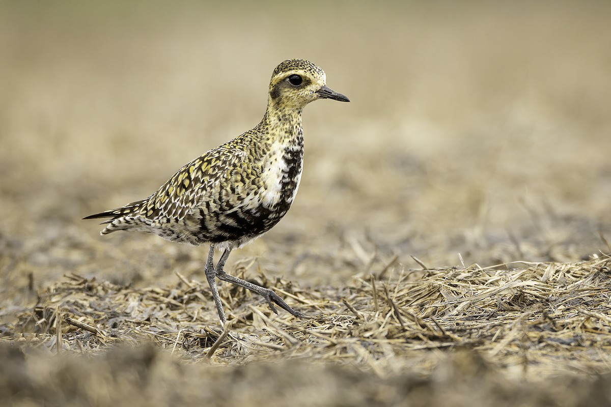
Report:
[[298,198],[228,271],[337,287],[395,258],[609,253],[610,21],[607,1],[2,1],[4,306],[66,273],[203,279],[205,248],[81,218],[252,128],[290,58],[351,103],[307,106]]

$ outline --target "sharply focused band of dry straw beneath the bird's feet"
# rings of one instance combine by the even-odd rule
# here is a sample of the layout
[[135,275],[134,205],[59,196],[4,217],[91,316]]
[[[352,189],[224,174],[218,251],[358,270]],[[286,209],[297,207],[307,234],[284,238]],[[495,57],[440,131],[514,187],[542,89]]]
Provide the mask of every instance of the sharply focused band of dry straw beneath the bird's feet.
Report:
[[312,315],[305,320],[270,315],[260,298],[223,286],[230,319],[224,331],[207,286],[183,275],[174,286],[141,289],[67,275],[41,292],[32,310],[18,315],[12,337],[2,339],[58,350],[62,342],[64,351],[87,353],[156,342],[213,364],[307,357],[356,364],[382,378],[408,360],[410,369],[427,372],[430,360],[418,355],[452,348],[478,350],[532,378],[609,370],[608,257],[436,270],[392,264],[386,277],[354,278],[340,289],[259,281]]

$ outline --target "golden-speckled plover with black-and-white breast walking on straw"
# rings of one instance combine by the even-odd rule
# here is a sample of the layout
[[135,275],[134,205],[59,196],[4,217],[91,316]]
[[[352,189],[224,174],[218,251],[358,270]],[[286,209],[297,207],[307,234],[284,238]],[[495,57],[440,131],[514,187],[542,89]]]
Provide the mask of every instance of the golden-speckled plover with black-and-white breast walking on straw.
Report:
[[[323,69],[303,59],[281,62],[269,82],[262,120],[183,165],[155,193],[83,219],[109,218],[101,235],[147,232],[172,242],[208,244],[204,274],[221,324],[227,317],[216,279],[244,287],[296,317],[306,317],[271,289],[224,271],[229,254],[273,228],[287,214],[301,180],[304,155],[302,110],[317,99],[349,102],[326,85]],[[221,251],[216,266],[214,251]]]

